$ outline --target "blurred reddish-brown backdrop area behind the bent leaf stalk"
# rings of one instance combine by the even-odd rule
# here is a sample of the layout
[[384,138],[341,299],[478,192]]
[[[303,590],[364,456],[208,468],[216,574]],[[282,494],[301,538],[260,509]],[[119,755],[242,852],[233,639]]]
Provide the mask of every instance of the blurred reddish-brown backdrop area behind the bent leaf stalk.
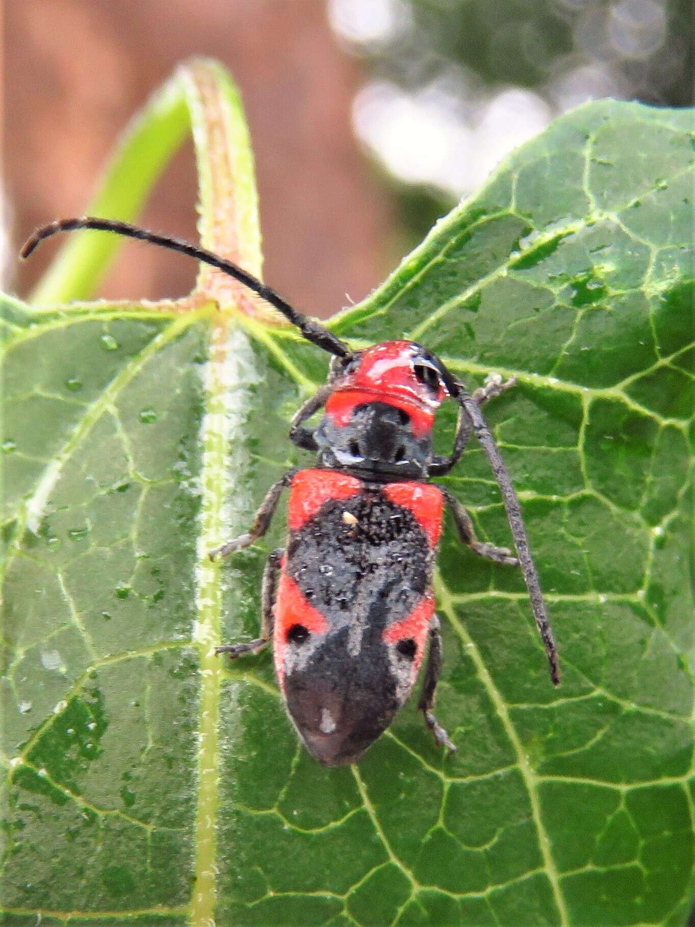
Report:
[[[35,225],[79,214],[133,113],[186,57],[217,57],[246,106],[256,158],[265,279],[326,316],[385,275],[390,207],[350,127],[360,80],[321,0],[6,0],[5,196],[11,248]],[[143,224],[196,238],[188,142]],[[12,265],[27,296],[56,246]],[[126,243],[105,297],[181,296],[196,268]]]

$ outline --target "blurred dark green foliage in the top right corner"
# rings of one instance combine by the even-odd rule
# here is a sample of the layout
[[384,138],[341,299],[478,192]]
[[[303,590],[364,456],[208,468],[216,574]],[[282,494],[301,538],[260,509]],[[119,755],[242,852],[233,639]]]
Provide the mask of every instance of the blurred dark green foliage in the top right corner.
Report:
[[452,63],[484,83],[514,83],[545,95],[554,74],[583,59],[609,65],[630,98],[672,107],[693,102],[689,0],[406,2],[412,28],[377,63],[409,82],[422,82],[433,65]]

